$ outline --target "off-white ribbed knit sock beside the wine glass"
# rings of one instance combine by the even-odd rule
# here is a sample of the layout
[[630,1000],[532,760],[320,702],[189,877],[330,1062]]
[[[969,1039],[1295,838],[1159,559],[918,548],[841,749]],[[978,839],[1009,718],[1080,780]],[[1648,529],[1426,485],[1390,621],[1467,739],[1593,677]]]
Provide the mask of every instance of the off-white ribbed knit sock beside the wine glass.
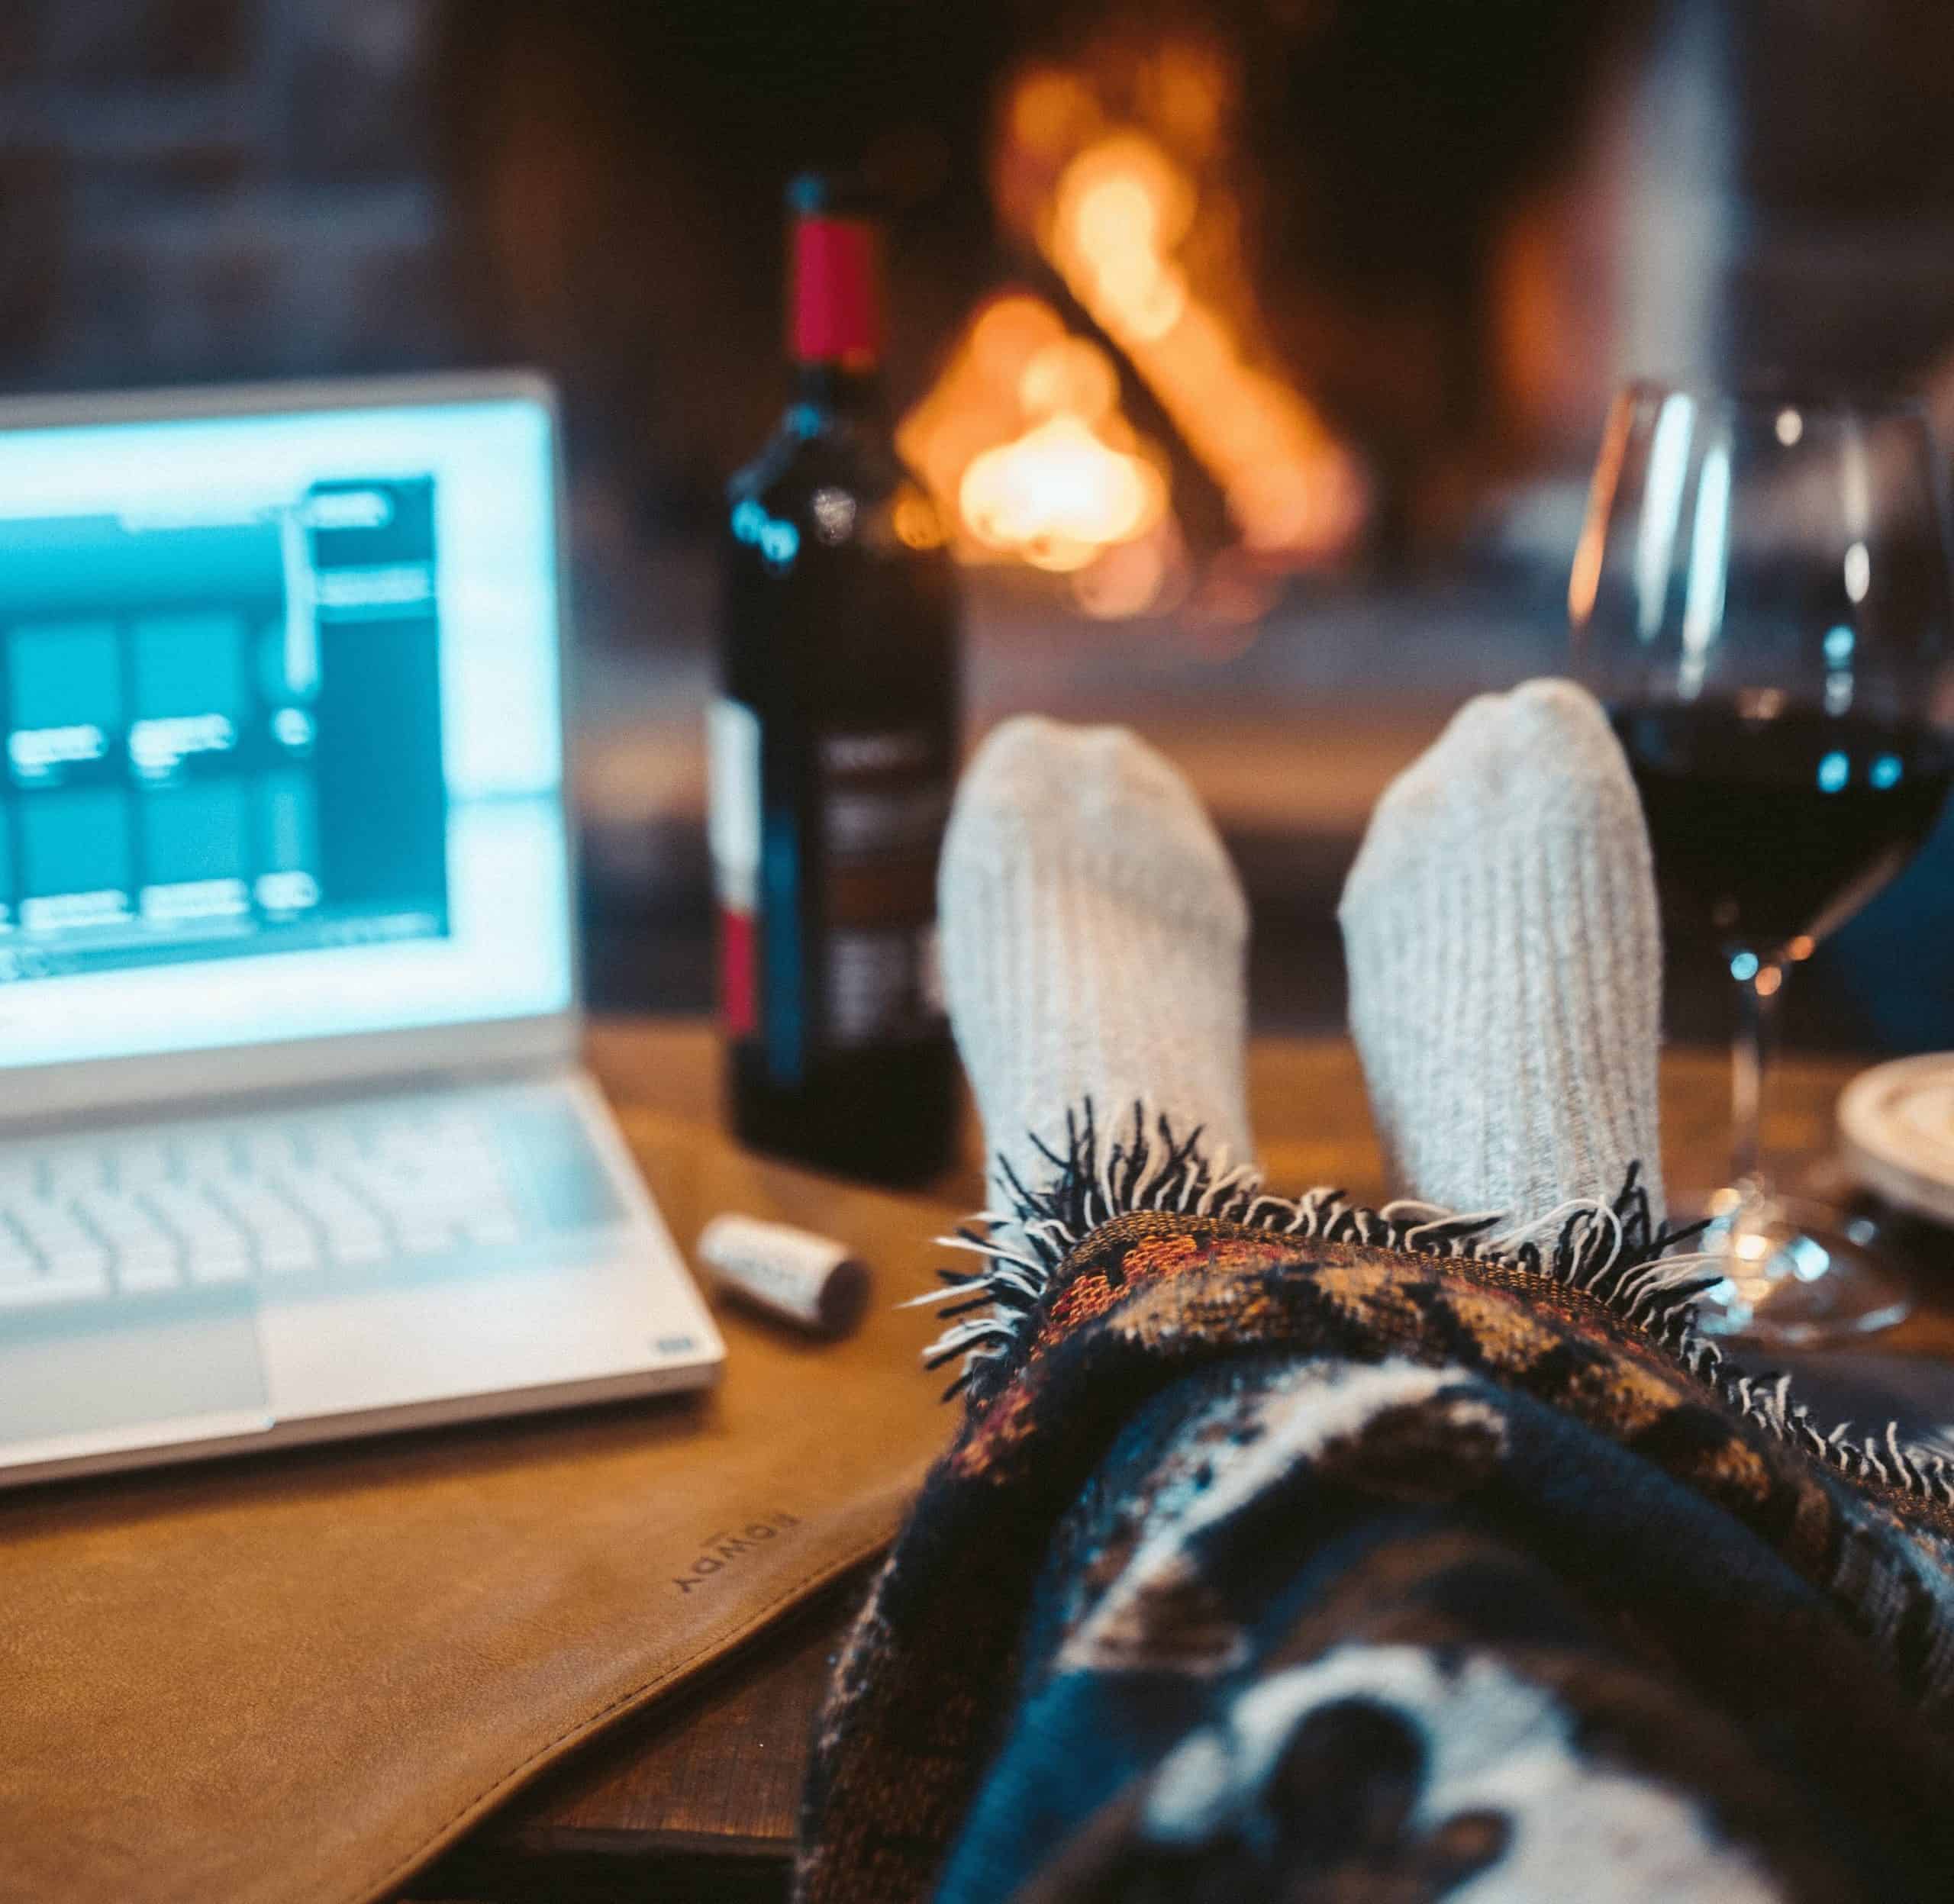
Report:
[[1350,1029],[1405,1191],[1661,1219],[1661,939],[1628,762],[1571,682],[1483,695],[1385,791],[1344,887]]

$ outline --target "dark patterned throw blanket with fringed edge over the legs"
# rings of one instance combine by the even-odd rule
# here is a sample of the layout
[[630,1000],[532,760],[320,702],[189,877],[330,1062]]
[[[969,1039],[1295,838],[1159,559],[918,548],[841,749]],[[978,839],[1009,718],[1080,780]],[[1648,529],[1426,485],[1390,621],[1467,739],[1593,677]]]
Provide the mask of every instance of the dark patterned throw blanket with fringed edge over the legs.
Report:
[[1075,1131],[842,1654],[799,1896],[1954,1896],[1954,1469],[1690,1326],[1630,1181],[1301,1203]]

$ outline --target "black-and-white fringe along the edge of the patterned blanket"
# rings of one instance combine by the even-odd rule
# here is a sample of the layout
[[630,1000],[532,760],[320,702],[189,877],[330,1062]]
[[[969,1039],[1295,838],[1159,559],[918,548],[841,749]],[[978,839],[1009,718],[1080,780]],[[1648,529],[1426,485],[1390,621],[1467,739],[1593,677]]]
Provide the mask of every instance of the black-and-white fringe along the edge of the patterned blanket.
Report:
[[1456,1213],[1409,1199],[1366,1209],[1340,1189],[1294,1199],[1270,1195],[1254,1166],[1231,1166],[1225,1152],[1208,1152],[1200,1127],[1180,1135],[1167,1115],[1149,1115],[1141,1103],[1116,1137],[1102,1137],[1088,1099],[1067,1113],[1063,1152],[1034,1142],[1051,1166],[1047,1185],[1026,1185],[998,1158],[1010,1209],[979,1211],[954,1236],[936,1238],[942,1248],[981,1262],[940,1269],[944,1287],[905,1304],[936,1306],[950,1324],[922,1357],[928,1369],[963,1357],[946,1400],[965,1390],[989,1396],[1010,1377],[1059,1267],[1096,1228],[1135,1211],[1167,1211],[1297,1242],[1354,1242],[1438,1262],[1493,1263],[1579,1289],[1776,1439],[1852,1480],[1878,1480],[1954,1508],[1948,1455],[1903,1441],[1893,1422],[1856,1439],[1848,1422],[1821,1431],[1811,1412],[1792,1400],[1790,1375],[1743,1375],[1725,1361],[1694,1322],[1696,1299],[1720,1279],[1716,1258],[1669,1254],[1696,1230],[1653,1221],[1639,1164],[1628,1166],[1610,1201],[1575,1199],[1520,1228],[1501,1228],[1499,1211]]

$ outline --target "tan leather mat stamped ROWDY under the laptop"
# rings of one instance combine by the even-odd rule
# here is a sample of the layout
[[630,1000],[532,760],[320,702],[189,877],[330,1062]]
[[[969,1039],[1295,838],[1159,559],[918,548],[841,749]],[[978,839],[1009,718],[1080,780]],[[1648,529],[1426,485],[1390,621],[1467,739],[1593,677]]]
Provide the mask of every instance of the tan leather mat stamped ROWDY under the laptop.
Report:
[[860,1330],[715,1297],[701,1396],[0,1496],[0,1900],[387,1896],[887,1543],[952,1428],[891,1304],[952,1213],[625,1129],[688,1256],[727,1209],[860,1250]]

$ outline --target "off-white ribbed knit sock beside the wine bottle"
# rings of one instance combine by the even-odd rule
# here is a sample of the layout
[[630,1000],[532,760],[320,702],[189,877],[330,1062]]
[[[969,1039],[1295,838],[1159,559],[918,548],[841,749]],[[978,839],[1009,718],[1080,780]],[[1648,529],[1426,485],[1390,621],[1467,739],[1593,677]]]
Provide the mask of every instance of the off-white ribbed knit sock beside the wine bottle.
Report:
[[[940,875],[950,1023],[993,1158],[1030,1187],[1065,1115],[1135,1099],[1249,1160],[1249,908],[1188,783],[1124,728],[1016,719],[957,789]],[[1008,1187],[993,1164],[993,1207]]]

